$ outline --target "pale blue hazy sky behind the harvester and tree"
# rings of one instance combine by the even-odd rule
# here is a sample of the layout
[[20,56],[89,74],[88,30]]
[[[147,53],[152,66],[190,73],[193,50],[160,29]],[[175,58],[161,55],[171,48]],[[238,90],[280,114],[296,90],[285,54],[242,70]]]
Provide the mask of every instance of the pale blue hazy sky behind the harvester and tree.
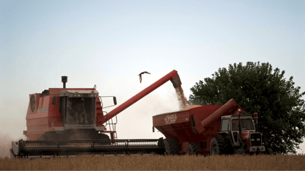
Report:
[[[173,69],[188,98],[218,68],[260,61],[293,76],[303,92],[304,9],[304,1],[2,2],[1,141],[24,138],[29,94],[63,87],[61,76],[71,88],[96,84],[118,106]],[[140,84],[142,71],[151,74]],[[166,82],[117,115],[117,137],[162,137],[152,133],[152,116],[178,110]]]

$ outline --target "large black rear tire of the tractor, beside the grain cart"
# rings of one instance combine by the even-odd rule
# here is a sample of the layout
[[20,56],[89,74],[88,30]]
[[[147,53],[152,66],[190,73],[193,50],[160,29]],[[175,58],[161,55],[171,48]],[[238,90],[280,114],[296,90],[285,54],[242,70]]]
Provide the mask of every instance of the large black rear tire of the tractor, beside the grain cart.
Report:
[[229,139],[222,135],[216,135],[210,143],[210,155],[231,155],[233,148]]

